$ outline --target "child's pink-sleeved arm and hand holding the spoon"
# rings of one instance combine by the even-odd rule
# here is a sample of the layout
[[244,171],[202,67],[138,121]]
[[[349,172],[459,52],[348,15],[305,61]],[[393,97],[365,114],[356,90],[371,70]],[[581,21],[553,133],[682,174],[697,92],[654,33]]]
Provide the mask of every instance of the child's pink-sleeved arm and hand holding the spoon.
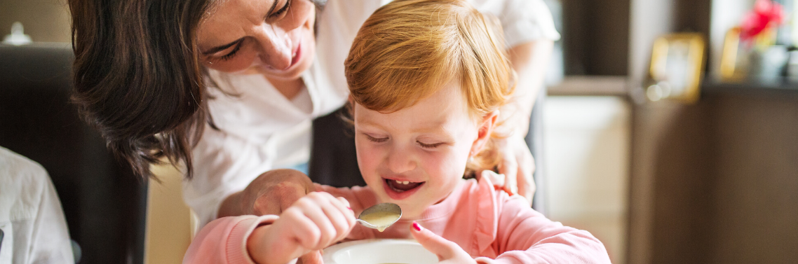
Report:
[[311,192],[276,215],[216,219],[194,238],[184,263],[288,263],[346,237],[355,225],[346,199]]

